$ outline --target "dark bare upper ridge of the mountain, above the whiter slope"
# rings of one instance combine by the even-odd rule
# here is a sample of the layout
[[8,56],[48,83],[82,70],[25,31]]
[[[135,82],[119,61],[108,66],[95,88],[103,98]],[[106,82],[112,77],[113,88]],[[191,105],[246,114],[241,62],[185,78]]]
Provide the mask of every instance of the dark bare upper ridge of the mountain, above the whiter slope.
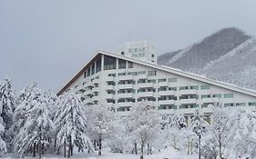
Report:
[[244,34],[237,28],[225,28],[206,37],[199,43],[179,51],[167,63],[165,63],[167,60],[162,60],[166,55],[160,55],[159,65],[168,65],[184,71],[198,73],[210,61],[217,60],[221,55],[227,54],[250,38],[251,36]]

